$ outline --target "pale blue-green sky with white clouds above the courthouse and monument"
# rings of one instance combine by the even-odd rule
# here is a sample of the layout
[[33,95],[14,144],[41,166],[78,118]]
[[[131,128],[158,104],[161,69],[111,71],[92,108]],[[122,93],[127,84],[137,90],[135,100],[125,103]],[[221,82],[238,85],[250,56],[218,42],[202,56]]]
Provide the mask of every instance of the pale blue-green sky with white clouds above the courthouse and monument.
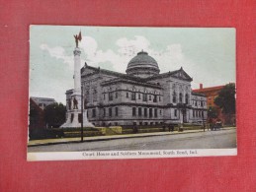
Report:
[[126,73],[137,52],[148,52],[160,73],[183,69],[192,89],[235,82],[233,28],[127,28],[83,26],[30,27],[30,96],[52,97],[65,104],[73,89],[74,34],[81,31],[81,67]]

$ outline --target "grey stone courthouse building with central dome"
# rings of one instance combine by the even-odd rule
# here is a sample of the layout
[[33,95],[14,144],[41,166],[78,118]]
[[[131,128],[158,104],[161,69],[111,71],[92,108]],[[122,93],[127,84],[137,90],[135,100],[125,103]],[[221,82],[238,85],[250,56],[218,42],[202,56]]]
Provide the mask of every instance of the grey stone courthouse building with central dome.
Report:
[[[88,119],[96,126],[205,121],[207,97],[192,92],[192,81],[182,67],[160,73],[156,60],[143,51],[128,62],[126,74],[86,63],[81,69]],[[67,103],[72,93],[66,92]]]

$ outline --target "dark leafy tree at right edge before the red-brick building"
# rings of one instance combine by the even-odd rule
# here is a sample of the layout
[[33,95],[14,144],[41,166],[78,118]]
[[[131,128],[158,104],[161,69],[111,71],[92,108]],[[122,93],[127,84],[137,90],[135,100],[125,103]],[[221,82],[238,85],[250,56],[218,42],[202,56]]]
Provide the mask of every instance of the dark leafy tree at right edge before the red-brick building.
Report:
[[227,84],[215,97],[214,103],[221,108],[221,112],[224,114],[234,114],[235,113],[235,85]]

